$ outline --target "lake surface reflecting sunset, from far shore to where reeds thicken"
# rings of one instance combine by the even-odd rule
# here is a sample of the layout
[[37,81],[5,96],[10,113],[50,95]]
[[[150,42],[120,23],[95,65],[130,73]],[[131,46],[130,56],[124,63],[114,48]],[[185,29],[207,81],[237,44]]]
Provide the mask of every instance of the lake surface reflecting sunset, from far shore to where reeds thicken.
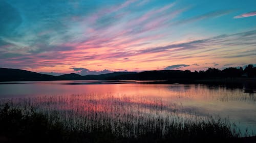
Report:
[[[176,112],[187,118],[219,116],[236,123],[242,132],[248,129],[249,134],[251,131],[256,133],[256,94],[247,93],[243,87],[227,88],[223,85],[207,84],[149,84],[148,82],[115,80],[1,82],[0,101],[1,103],[10,100],[24,102],[22,99],[26,99],[26,102],[29,101],[31,104],[33,102],[33,105],[37,103],[40,106],[42,104],[39,102],[45,103],[47,99],[47,102],[51,100],[64,104],[54,104],[52,108],[59,109],[58,106],[61,105],[61,109],[69,110],[75,110],[74,104],[91,106],[85,104],[93,103],[94,110],[108,112],[113,110],[111,104],[114,102],[111,100],[115,100],[116,104],[118,99],[118,102],[122,102],[118,104],[123,105],[125,102],[126,105],[129,102],[129,108],[139,110],[137,114],[143,112],[144,114],[141,114],[143,116],[145,112],[147,115],[158,114],[156,112],[158,109],[164,110],[164,115],[168,112]],[[91,95],[96,95],[96,97],[92,98]],[[73,102],[74,97],[70,98],[70,96],[76,96],[76,99],[79,97],[79,100]],[[90,102],[86,102],[85,100],[88,101],[89,98]],[[97,101],[100,99],[100,102],[92,102],[92,99],[96,98]],[[131,105],[136,108],[132,108]],[[111,106],[111,109],[108,106]],[[153,112],[151,108],[154,109]]]

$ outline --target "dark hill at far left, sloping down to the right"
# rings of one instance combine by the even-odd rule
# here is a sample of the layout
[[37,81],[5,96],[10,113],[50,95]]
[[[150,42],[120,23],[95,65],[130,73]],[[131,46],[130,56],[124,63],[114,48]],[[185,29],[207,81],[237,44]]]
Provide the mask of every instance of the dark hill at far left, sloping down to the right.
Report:
[[57,77],[36,72],[0,68],[0,81],[40,81],[40,80],[58,80]]

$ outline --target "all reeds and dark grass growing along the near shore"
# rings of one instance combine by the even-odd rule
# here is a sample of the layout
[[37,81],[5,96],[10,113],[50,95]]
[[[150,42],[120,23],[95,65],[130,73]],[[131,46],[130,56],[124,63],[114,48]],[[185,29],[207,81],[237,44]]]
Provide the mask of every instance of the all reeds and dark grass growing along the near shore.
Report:
[[178,104],[156,98],[40,96],[2,99],[0,107],[6,142],[236,142],[241,136],[226,119],[181,113]]

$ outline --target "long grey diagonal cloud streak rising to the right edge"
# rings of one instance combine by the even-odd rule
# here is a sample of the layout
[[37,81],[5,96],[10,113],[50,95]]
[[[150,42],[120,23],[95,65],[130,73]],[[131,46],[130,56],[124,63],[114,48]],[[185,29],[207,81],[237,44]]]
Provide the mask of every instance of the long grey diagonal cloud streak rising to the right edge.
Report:
[[[220,48],[225,48],[230,46],[243,46],[243,45],[255,46],[256,40],[254,40],[254,38],[256,38],[256,31],[248,31],[248,32],[242,32],[242,33],[236,33],[236,34],[230,34],[230,35],[220,35],[220,36],[211,37],[207,39],[194,40],[194,41],[183,42],[179,44],[169,44],[167,46],[146,48],[144,50],[140,50],[139,52],[140,53],[157,53],[157,52],[168,51],[170,49],[173,49],[172,50],[173,52],[185,51],[185,50],[200,50],[200,49],[204,49],[205,51],[208,52],[210,50],[218,50]],[[212,46],[214,47],[219,46],[219,48],[217,49],[207,48]],[[228,50],[228,51],[231,51],[231,50]],[[187,53],[185,54],[187,55]],[[240,56],[240,55],[234,55],[234,56]],[[231,57],[231,56],[229,55],[227,57]]]

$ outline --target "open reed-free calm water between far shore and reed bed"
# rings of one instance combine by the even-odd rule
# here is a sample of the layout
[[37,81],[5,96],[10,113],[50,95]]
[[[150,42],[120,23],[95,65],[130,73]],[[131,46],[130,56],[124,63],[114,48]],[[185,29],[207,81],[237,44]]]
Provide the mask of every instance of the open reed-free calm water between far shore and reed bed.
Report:
[[[144,84],[142,81],[28,81],[2,82],[0,100],[45,96],[101,95],[101,98],[131,97],[132,102],[175,105],[180,114],[220,116],[244,131],[256,133],[256,94],[242,88],[228,89],[205,84]],[[113,99],[113,97],[112,97]],[[58,101],[59,102],[59,101]],[[125,100],[126,102],[126,100]],[[147,101],[148,102],[148,101]],[[79,104],[79,103],[77,103]],[[147,106],[151,107],[151,106]]]

